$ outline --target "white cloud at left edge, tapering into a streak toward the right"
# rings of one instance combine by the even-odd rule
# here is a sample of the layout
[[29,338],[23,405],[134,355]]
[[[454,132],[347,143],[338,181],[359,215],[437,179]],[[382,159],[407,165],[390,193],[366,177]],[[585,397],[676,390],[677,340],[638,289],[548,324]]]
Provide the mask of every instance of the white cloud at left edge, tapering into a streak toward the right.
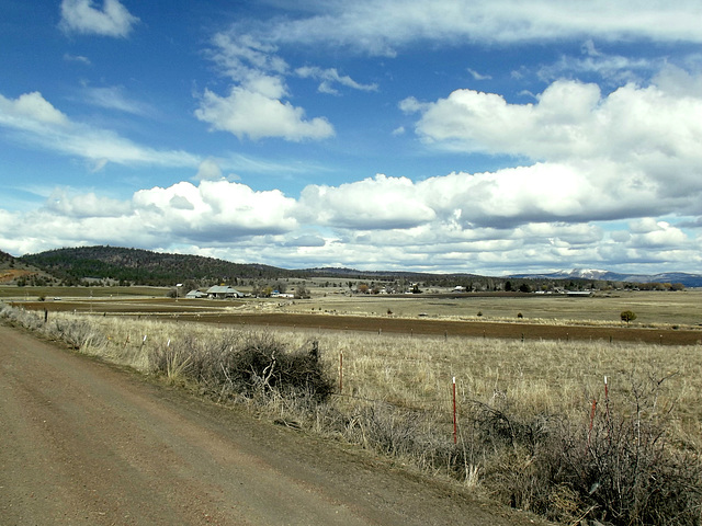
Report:
[[196,167],[200,159],[182,150],[157,150],[138,145],[113,130],[71,121],[39,92],[18,99],[0,94],[0,127],[21,142],[86,159],[101,169],[106,162]]

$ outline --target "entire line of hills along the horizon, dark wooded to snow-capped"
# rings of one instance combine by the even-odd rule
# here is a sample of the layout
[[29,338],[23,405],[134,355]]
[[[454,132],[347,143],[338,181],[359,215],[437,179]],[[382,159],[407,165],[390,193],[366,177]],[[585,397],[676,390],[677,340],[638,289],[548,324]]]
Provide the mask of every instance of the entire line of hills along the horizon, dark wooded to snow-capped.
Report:
[[[322,267],[286,270],[262,264],[233,263],[199,255],[169,254],[141,249],[118,247],[80,247],[57,249],[13,258],[0,251],[0,270],[23,268],[34,272],[48,283],[77,285],[84,279],[109,279],[125,284],[172,286],[176,283],[237,283],[241,279],[272,281],[285,278],[329,277],[365,281],[405,279],[422,282],[426,286],[453,287],[480,284],[482,289],[501,289],[507,281],[531,279],[535,282],[622,282],[670,283],[686,287],[702,287],[702,274],[621,274],[592,268],[575,268],[544,274],[512,274],[510,276],[479,276],[467,273],[428,274],[403,271],[359,271],[355,268]],[[27,282],[31,284],[33,282]],[[36,283],[36,282],[34,282]],[[194,285],[196,284],[194,283]],[[513,286],[514,284],[512,284]],[[559,285],[561,286],[561,285]]]

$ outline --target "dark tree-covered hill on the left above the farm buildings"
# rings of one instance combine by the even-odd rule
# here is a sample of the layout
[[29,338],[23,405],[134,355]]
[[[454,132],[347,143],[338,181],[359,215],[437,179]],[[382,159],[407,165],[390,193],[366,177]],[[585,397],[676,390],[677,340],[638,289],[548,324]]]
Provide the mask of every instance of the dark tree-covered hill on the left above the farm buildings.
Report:
[[172,286],[188,281],[203,284],[236,283],[242,278],[292,277],[295,274],[268,265],[115,247],[57,249],[23,255],[18,260],[42,268],[65,285],[77,285],[84,278],[98,278],[125,285]]

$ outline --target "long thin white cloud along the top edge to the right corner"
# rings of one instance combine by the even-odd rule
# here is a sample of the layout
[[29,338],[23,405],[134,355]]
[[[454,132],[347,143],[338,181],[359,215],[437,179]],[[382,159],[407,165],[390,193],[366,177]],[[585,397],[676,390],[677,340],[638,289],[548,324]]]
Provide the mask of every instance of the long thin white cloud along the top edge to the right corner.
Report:
[[270,45],[344,46],[394,56],[417,41],[520,43],[562,38],[702,42],[695,0],[554,2],[535,0],[360,0],[314,5],[316,13],[252,27]]

